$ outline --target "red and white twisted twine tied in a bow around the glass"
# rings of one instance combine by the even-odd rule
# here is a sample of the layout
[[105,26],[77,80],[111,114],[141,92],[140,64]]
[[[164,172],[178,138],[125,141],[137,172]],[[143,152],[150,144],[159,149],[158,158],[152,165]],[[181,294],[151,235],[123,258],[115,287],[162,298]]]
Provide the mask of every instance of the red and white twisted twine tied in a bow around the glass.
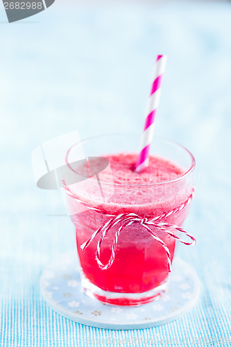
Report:
[[[72,198],[74,198],[75,200],[77,200],[80,203],[83,203],[83,201],[80,201],[76,196],[74,196],[69,188],[67,186],[65,186],[65,189],[67,191],[67,194],[69,196],[71,196]],[[105,214],[105,216],[110,217],[110,219],[103,224],[103,226],[99,227],[93,234],[91,237],[89,237],[89,239],[87,239],[86,242],[84,242],[80,248],[85,251],[85,249],[87,248],[87,246],[92,242],[92,240],[96,237],[96,235],[99,235],[102,232],[102,235],[99,239],[99,242],[97,243],[96,246],[96,262],[98,263],[99,267],[102,270],[107,270],[110,268],[110,266],[112,266],[113,262],[114,262],[114,258],[115,258],[115,253],[117,250],[117,243],[118,243],[118,239],[119,239],[119,235],[121,233],[121,231],[123,230],[123,228],[126,228],[126,226],[131,226],[133,223],[139,223],[141,224],[144,228],[146,228],[147,232],[149,232],[149,234],[157,241],[159,242],[162,247],[164,248],[164,251],[166,252],[166,256],[167,256],[167,260],[168,260],[168,271],[169,273],[171,272],[171,255],[170,255],[170,251],[169,248],[166,246],[166,244],[164,243],[164,241],[162,239],[160,239],[160,237],[158,237],[155,232],[153,232],[153,230],[151,230],[151,226],[153,226],[154,228],[156,228],[157,230],[161,230],[162,232],[166,232],[166,234],[168,234],[169,236],[173,237],[174,239],[177,239],[178,241],[180,241],[182,244],[186,244],[189,246],[194,246],[196,244],[196,239],[190,235],[188,232],[186,232],[184,229],[180,228],[179,226],[176,226],[174,224],[171,223],[166,223],[164,221],[162,221],[164,218],[169,217],[173,214],[176,214],[177,212],[180,212],[183,208],[185,208],[191,201],[191,199],[194,196],[194,189],[191,192],[191,195],[189,196],[189,198],[187,198],[187,201],[185,201],[185,203],[182,203],[178,208],[170,211],[170,212],[165,212],[163,214],[160,214],[159,216],[156,216],[154,218],[151,219],[147,219],[147,218],[142,218],[139,217],[138,214],[135,213],[121,213],[119,215],[113,215],[113,214]],[[84,205],[87,205],[86,203],[83,203]],[[101,210],[99,210],[98,208],[92,208],[91,206],[87,205],[87,208],[89,208],[90,210],[94,210],[96,212],[100,212],[102,213]],[[108,260],[107,264],[103,264],[100,260],[101,258],[101,245],[103,243],[103,239],[108,235],[108,232],[110,231],[110,229],[113,226],[116,226],[118,223],[122,223],[121,226],[119,226],[119,229],[117,230],[117,232],[115,232],[114,234],[114,241],[112,244],[112,253],[110,256],[110,259]],[[180,239],[180,237],[178,237],[177,235],[175,235],[175,233],[171,230],[175,230],[184,233],[185,235],[187,235],[190,239],[191,242],[185,242],[183,239]]]

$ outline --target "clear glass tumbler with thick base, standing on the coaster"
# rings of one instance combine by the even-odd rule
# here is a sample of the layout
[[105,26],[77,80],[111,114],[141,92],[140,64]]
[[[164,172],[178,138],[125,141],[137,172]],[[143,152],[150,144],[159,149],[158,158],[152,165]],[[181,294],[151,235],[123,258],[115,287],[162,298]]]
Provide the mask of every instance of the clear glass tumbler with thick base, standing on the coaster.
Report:
[[[171,226],[180,228],[189,212],[195,160],[183,146],[155,137],[151,154],[176,164],[182,174],[161,183],[145,180],[144,184],[123,185],[114,183],[113,177],[111,182],[101,181],[101,172],[84,179],[81,169],[71,167],[70,158],[78,147],[84,150],[86,158],[99,158],[116,153],[138,153],[137,144],[139,135],[105,135],[78,142],[67,153],[72,174],[83,176],[74,184],[64,183],[67,210],[76,228],[82,285],[87,295],[116,305],[147,303],[166,290],[169,266],[178,242],[173,235],[179,235]],[[103,170],[108,170],[110,176],[110,164]],[[123,220],[113,223],[121,214]],[[129,220],[124,220],[128,217],[137,220],[129,224]],[[148,224],[149,221],[153,224]],[[111,227],[102,240],[107,223]],[[96,230],[99,232],[94,236]],[[83,249],[82,245],[91,237]],[[112,264],[105,266],[112,258]]]

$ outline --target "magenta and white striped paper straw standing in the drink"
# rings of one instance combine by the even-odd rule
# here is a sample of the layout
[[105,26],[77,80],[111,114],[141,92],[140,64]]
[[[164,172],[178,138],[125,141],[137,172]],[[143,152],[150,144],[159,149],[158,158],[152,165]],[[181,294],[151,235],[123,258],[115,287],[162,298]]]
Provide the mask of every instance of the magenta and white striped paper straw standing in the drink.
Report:
[[166,65],[166,56],[157,56],[155,62],[155,69],[153,75],[153,84],[151,87],[151,93],[148,98],[148,105],[146,109],[146,119],[144,124],[144,131],[142,134],[141,148],[138,156],[135,171],[141,172],[143,169],[148,167],[149,162],[149,149],[153,139],[154,121],[157,107],[160,101],[160,85],[164,69]]

